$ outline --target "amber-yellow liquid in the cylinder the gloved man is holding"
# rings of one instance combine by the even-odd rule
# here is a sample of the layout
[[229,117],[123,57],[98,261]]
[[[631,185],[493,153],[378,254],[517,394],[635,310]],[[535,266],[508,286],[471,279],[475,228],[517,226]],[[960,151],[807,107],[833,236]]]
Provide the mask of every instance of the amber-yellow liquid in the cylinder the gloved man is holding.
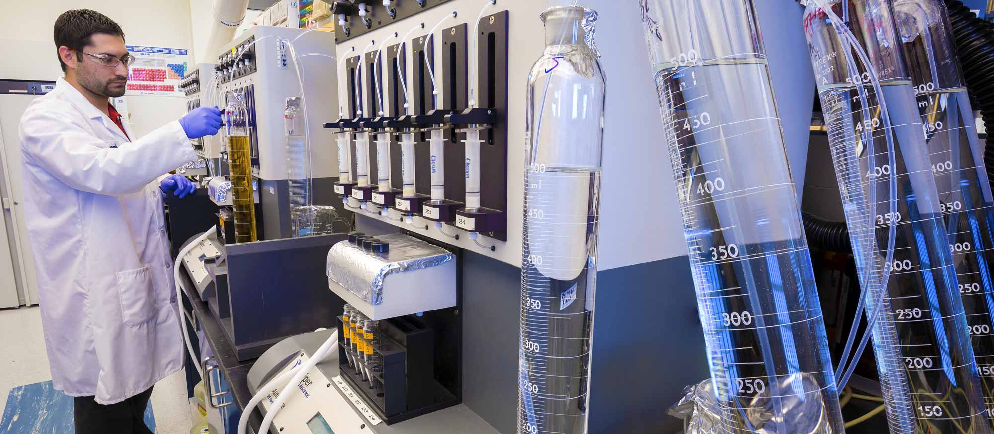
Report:
[[247,136],[228,138],[228,164],[235,211],[235,242],[258,241],[255,235],[255,200],[252,194],[251,150]]

